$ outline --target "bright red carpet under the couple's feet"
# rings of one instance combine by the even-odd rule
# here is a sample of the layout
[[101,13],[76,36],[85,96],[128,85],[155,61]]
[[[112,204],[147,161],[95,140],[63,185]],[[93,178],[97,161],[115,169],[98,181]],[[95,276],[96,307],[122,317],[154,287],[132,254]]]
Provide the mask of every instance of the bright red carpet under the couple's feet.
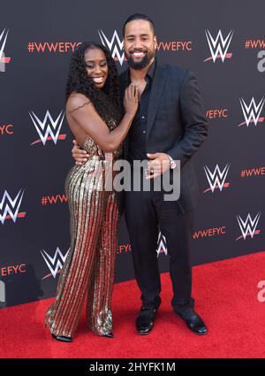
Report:
[[264,265],[263,251],[193,268],[195,309],[208,325],[207,335],[191,333],[171,311],[165,273],[163,303],[148,336],[134,328],[140,294],[133,280],[115,285],[113,339],[88,331],[83,316],[72,343],[52,340],[43,319],[53,299],[46,299],[0,311],[0,357],[264,357],[265,302],[257,299]]

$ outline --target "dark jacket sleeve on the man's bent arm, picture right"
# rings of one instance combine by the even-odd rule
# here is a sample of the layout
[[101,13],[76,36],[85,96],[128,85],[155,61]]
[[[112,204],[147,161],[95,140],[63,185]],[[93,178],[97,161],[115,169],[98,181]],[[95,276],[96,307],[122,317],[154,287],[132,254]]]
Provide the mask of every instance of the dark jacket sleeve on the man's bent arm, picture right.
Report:
[[179,101],[185,131],[182,140],[176,142],[167,154],[174,160],[180,160],[180,165],[183,166],[200,148],[208,134],[208,121],[193,72],[186,74],[180,89]]

